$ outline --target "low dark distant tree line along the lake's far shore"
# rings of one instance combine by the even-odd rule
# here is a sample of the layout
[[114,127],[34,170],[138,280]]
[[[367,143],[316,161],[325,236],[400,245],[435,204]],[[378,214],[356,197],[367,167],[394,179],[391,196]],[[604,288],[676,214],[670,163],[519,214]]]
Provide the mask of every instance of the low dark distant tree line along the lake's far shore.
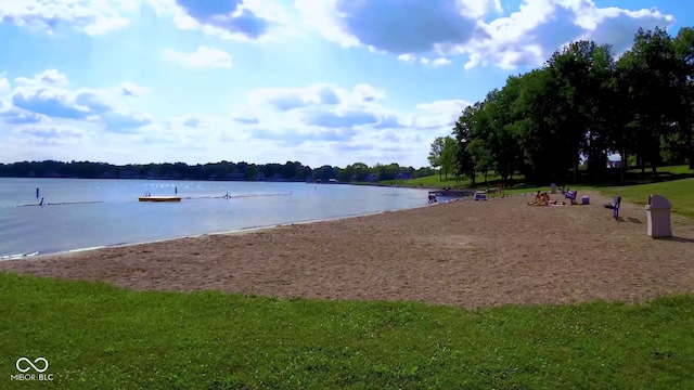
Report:
[[90,161],[22,161],[0,164],[4,178],[82,178],[82,179],[176,179],[240,181],[329,181],[369,182],[419,178],[436,174],[432,168],[414,169],[398,164],[368,166],[356,162],[344,168],[322,166],[311,168],[298,161],[256,165],[248,162],[209,162],[188,165],[165,162],[116,166]]

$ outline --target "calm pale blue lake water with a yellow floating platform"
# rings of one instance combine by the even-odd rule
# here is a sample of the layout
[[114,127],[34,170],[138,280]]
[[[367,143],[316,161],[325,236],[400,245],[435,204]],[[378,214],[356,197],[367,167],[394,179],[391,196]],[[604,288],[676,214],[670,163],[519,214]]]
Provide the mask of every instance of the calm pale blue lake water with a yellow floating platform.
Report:
[[[137,199],[145,192],[174,195],[175,186],[178,196],[183,197],[180,203],[141,203]],[[37,187],[47,206],[16,207],[37,204]],[[234,197],[195,198],[227,193]],[[100,203],[51,205],[92,200]],[[0,178],[0,259],[357,216],[425,204],[424,190],[339,184]]]

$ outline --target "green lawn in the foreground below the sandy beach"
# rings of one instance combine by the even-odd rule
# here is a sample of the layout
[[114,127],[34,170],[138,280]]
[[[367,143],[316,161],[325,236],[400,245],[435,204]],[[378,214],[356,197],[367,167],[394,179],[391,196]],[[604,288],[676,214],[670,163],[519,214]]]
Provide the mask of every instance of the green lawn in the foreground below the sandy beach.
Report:
[[694,388],[694,297],[503,307],[141,292],[0,273],[0,388]]

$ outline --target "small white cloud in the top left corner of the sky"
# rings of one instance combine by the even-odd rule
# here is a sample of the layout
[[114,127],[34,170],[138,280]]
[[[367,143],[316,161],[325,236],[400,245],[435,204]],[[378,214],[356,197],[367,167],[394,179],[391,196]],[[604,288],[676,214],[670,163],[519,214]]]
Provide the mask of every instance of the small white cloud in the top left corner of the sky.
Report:
[[56,21],[97,36],[126,27],[136,0],[0,0],[0,21],[53,31]]

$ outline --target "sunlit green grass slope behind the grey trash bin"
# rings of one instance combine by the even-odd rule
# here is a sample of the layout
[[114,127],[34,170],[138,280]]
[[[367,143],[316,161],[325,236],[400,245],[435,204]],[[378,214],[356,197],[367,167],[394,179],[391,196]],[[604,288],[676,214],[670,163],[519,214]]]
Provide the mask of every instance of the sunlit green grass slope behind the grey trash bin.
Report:
[[641,206],[647,203],[648,195],[663,195],[672,204],[672,212],[694,218],[694,179],[628,186],[596,187],[595,190],[606,196],[619,195],[625,202]]

